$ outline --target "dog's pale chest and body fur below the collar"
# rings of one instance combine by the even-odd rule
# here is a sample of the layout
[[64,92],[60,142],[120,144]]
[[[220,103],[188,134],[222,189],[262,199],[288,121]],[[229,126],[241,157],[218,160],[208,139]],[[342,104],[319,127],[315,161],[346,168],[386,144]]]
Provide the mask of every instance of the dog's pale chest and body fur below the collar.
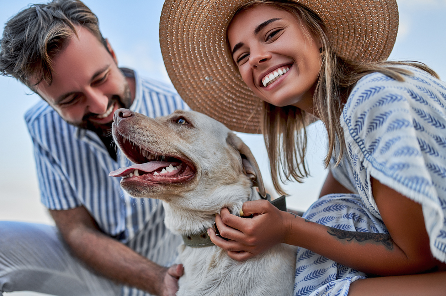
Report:
[[272,296],[293,294],[295,248],[279,244],[244,262],[217,247],[179,247],[184,275],[178,296]]

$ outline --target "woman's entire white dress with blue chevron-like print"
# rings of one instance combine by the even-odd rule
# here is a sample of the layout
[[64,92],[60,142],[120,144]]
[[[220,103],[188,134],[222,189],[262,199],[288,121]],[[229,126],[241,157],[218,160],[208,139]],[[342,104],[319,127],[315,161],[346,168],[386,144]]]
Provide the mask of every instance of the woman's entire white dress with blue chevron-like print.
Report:
[[[446,83],[424,71],[398,82],[381,73],[352,90],[340,121],[347,157],[334,177],[358,194],[326,195],[306,219],[347,231],[388,233],[373,199],[370,178],[422,205],[430,249],[446,261]],[[294,295],[344,295],[362,272],[299,248]]]

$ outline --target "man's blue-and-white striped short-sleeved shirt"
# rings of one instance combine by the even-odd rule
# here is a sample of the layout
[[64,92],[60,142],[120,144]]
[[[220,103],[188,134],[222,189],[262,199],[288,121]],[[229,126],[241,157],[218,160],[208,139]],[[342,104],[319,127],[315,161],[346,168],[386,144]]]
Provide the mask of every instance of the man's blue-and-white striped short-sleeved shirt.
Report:
[[[149,117],[189,109],[174,89],[140,79],[135,73],[136,97],[130,109]],[[90,130],[67,124],[40,101],[25,120],[34,144],[41,201],[52,210],[84,206],[107,234],[150,260],[168,265],[181,238],[164,226],[164,209],[157,199],[133,199],[108,173],[130,162],[118,153],[114,161],[103,142]],[[125,288],[123,295],[145,295]],[[148,294],[147,294],[148,295]]]

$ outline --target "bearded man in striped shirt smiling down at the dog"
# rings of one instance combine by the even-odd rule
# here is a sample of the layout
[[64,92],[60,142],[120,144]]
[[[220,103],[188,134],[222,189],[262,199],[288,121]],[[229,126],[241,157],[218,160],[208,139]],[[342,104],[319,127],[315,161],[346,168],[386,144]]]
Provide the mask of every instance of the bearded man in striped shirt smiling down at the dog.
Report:
[[165,229],[161,203],[130,199],[108,177],[128,166],[109,135],[116,109],[155,117],[186,104],[168,87],[119,69],[96,16],[78,0],[19,12],[0,46],[1,73],[44,100],[25,119],[41,199],[58,228],[0,222],[0,293],[174,295],[182,267],[164,266],[179,239]]

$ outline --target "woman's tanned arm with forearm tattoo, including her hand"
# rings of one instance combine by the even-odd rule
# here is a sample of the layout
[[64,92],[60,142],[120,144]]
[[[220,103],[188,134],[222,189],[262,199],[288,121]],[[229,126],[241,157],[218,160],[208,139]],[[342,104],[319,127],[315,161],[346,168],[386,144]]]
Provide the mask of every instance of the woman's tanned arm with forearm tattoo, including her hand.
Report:
[[421,205],[374,179],[372,191],[389,235],[343,231],[253,201],[243,206],[245,215],[254,214],[252,219],[230,215],[227,210],[217,215],[221,235],[233,240],[216,237],[213,231],[211,239],[235,260],[248,259],[277,243],[289,243],[376,275],[411,274],[438,266],[430,253]]

